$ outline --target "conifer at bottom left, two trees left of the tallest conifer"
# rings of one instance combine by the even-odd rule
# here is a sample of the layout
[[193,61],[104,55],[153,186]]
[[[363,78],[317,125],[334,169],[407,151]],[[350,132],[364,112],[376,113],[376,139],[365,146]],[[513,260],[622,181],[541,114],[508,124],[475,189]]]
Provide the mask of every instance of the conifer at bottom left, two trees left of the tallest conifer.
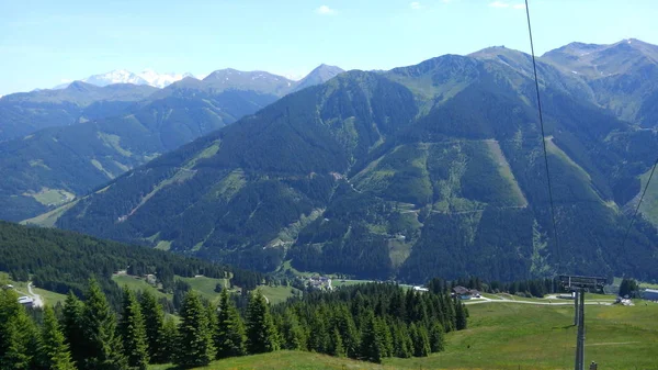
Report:
[[64,334],[49,306],[44,309],[44,324],[38,343],[38,366],[45,370],[75,370]]

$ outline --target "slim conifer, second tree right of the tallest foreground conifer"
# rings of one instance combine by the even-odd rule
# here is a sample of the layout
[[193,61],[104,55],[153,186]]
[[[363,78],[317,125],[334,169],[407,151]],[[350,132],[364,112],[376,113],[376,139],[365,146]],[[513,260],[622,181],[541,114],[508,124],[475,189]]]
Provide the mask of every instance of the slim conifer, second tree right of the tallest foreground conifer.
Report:
[[162,312],[162,306],[149,291],[143,292],[140,306],[150,361],[152,363],[168,362],[170,352],[163,348],[164,313]]

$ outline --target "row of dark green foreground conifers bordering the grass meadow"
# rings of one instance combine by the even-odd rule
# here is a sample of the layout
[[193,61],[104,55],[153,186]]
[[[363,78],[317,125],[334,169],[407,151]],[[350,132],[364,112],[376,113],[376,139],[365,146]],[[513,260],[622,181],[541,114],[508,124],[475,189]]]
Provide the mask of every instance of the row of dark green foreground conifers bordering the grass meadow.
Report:
[[83,300],[70,292],[59,310],[46,306],[38,315],[13,290],[2,290],[0,368],[127,370],[169,362],[192,368],[280,349],[381,362],[443,350],[444,333],[466,328],[468,312],[447,291],[370,283],[272,307],[256,290],[242,313],[227,290],[218,305],[188,291],[178,316],[177,323],[151,293],[127,287],[115,313],[94,279]]

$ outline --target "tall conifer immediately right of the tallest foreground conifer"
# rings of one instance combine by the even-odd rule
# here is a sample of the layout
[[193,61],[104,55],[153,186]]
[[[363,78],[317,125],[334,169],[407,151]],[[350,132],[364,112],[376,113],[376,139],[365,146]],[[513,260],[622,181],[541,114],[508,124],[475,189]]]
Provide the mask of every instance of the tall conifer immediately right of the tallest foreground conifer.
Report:
[[121,334],[124,355],[127,358],[128,366],[139,370],[146,370],[148,367],[148,346],[146,343],[146,327],[144,326],[144,316],[141,307],[128,287],[123,290],[122,316],[118,322],[118,333]]

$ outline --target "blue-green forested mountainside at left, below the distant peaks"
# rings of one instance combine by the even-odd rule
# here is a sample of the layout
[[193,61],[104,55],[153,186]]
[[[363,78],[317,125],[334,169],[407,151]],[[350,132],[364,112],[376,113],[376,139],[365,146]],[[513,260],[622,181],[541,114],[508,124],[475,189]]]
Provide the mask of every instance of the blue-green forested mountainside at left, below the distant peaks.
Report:
[[7,204],[0,218],[44,213],[274,100],[251,91],[188,92],[0,143],[0,176],[5,179],[0,200]]

